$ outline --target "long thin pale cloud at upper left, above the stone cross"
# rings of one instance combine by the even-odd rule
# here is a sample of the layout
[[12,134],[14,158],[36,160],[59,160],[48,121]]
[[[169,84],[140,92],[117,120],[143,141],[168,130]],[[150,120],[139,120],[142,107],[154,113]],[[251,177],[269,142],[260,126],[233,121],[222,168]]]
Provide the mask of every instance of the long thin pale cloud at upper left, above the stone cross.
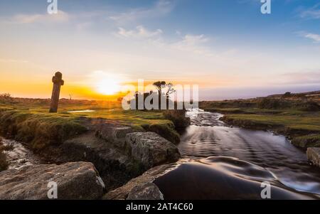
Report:
[[4,23],[48,23],[48,22],[65,22],[70,18],[69,14],[64,11],[58,11],[58,14],[17,14],[11,18],[4,18]]

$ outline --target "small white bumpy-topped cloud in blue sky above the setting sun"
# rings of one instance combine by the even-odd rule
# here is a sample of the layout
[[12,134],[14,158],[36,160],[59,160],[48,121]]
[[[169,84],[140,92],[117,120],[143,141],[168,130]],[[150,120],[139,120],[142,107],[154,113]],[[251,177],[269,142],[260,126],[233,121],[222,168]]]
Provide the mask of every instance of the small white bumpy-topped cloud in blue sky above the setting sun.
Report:
[[156,31],[149,31],[144,28],[144,26],[137,26],[136,30],[127,31],[124,28],[119,28],[117,35],[124,36],[127,38],[152,38],[161,35],[163,33],[161,29],[157,29]]

